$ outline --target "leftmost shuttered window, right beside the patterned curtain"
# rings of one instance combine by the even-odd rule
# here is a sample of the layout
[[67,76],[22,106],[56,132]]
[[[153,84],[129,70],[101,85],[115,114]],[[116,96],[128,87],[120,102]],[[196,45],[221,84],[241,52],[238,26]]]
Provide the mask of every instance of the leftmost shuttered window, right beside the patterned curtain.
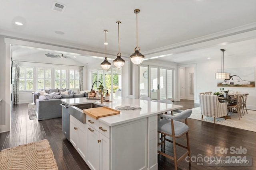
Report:
[[33,90],[33,68],[20,67],[19,90]]

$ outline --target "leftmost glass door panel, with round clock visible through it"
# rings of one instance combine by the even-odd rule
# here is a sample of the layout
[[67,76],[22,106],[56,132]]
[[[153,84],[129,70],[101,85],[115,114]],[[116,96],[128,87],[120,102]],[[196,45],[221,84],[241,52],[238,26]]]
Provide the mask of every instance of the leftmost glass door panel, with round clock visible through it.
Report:
[[140,97],[148,96],[148,67],[140,66]]

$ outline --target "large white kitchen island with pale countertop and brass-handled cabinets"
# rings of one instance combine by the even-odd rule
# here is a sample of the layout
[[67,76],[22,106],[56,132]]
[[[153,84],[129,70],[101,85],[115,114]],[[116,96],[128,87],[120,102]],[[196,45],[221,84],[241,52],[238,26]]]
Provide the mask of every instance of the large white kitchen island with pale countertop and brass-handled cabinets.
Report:
[[[157,170],[158,114],[183,106],[121,98],[112,102],[70,98],[61,100],[72,109],[63,111],[69,116],[70,139],[86,164],[95,170]],[[120,114],[94,119],[84,113],[78,117],[76,106],[88,104],[115,109],[120,105],[138,105],[142,109],[122,110]]]

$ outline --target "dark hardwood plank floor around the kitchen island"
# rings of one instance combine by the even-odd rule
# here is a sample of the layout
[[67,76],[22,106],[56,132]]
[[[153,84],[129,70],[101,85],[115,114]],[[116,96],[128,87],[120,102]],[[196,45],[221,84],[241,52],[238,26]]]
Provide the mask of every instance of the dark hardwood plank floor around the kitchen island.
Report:
[[[184,106],[183,109],[198,107],[193,100],[181,100],[174,104]],[[10,132],[0,133],[0,149],[6,149],[25,143],[47,139],[54,152],[59,170],[89,170],[84,160],[74,149],[72,144],[62,134],[62,118],[44,121],[30,120],[28,104],[18,104],[12,110],[12,127]],[[252,166],[204,166],[192,160],[191,166],[183,159],[178,163],[178,169],[191,170],[254,170],[256,168],[256,133],[236,129],[214,123],[188,119],[190,152],[193,158],[206,156],[251,156]],[[176,142],[185,144],[186,138],[180,137]],[[215,147],[245,148],[246,154],[214,153]],[[172,152],[172,144],[166,144],[166,152]],[[177,147],[178,155],[183,148]],[[172,170],[174,162],[162,155],[158,155],[158,170]]]

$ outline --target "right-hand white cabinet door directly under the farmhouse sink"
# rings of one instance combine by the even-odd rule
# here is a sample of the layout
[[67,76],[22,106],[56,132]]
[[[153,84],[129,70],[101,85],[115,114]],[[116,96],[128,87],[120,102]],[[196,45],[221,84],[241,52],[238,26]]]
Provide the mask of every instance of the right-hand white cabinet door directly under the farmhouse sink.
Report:
[[86,157],[86,124],[78,122],[78,153],[82,156],[85,161]]

